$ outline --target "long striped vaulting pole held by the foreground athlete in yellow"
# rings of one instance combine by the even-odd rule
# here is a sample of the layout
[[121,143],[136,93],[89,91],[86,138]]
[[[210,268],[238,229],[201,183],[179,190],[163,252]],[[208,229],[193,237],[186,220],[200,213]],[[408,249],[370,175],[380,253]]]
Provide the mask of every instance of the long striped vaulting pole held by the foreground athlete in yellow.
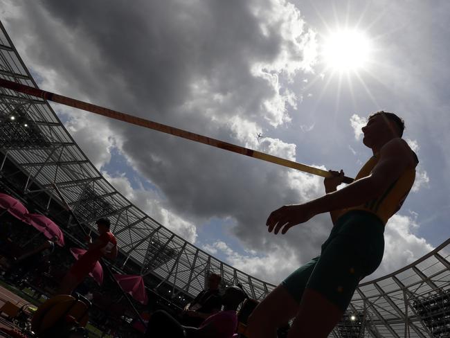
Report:
[[[216,148],[228,150],[230,152],[236,152],[237,154],[253,157],[254,159],[261,159],[262,161],[276,163],[279,164],[280,166],[301,170],[303,172],[308,172],[309,174],[318,175],[321,177],[330,177],[330,172],[327,172],[327,170],[314,168],[312,166],[307,166],[306,164],[289,161],[287,159],[282,159],[280,157],[276,157],[270,154],[265,154],[264,152],[258,152],[257,150],[244,148],[241,147],[240,145],[235,145],[232,143],[219,141],[217,139],[212,139],[210,137],[203,136],[200,134],[187,132],[186,130],[182,130],[176,127],[170,127],[169,125],[163,125],[161,123],[157,123],[154,121],[145,120],[145,118],[139,118],[122,112],[117,112],[116,110],[100,107],[98,105],[92,105],[91,103],[86,103],[80,100],[75,100],[74,98],[69,98],[67,96],[51,93],[50,91],[44,91],[42,89],[38,89],[35,87],[29,87],[26,86],[25,84],[20,84],[17,82],[12,82],[0,78],[0,87],[12,89],[14,91],[19,91],[21,93],[28,94],[30,96],[36,96],[38,98],[53,101],[55,103],[60,103],[62,105],[66,105],[69,107],[82,109],[94,114],[107,116],[109,118],[114,118],[116,120],[131,123],[133,125],[139,125],[141,127],[145,127],[148,129],[157,130],[159,132],[164,132],[165,134],[179,136],[182,137],[183,139],[188,139],[190,141],[204,143]],[[345,176],[343,179],[343,182],[346,184],[350,184],[352,183],[352,181],[353,179],[351,177]]]

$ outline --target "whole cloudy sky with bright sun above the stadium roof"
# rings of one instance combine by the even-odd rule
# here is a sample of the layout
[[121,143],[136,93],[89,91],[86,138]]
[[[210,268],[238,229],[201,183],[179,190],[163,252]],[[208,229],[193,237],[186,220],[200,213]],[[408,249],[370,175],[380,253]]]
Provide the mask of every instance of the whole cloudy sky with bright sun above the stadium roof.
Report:
[[[359,132],[366,116],[397,112],[420,166],[387,225],[384,261],[368,278],[449,238],[449,1],[0,4],[42,89],[350,177],[371,155]],[[330,57],[331,37],[342,31],[354,35]],[[342,46],[351,53],[341,55]],[[284,236],[264,225],[275,208],[323,194],[318,177],[53,108],[130,201],[244,272],[278,283],[316,256],[330,232],[328,215]]]

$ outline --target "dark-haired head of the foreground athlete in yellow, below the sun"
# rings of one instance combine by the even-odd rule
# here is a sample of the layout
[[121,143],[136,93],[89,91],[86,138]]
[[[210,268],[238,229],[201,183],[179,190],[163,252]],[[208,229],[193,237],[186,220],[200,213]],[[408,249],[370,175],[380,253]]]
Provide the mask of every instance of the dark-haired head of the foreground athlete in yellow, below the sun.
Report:
[[363,143],[369,148],[379,145],[395,137],[402,137],[405,124],[399,116],[379,111],[368,117],[367,124],[362,127],[364,134]]

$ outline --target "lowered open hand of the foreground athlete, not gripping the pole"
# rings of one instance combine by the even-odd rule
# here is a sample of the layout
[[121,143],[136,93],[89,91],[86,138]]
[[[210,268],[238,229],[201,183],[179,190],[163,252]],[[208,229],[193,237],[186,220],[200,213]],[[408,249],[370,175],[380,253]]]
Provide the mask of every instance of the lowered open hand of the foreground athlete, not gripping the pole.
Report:
[[277,234],[281,229],[281,233],[285,234],[292,226],[304,223],[314,215],[307,204],[282,206],[270,214],[266,225],[269,232]]

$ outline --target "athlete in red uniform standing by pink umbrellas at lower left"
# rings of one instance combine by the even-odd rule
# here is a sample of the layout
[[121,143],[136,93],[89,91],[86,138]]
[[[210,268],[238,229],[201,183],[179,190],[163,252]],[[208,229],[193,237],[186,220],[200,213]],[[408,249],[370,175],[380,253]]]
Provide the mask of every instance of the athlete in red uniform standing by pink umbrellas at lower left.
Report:
[[107,218],[100,218],[96,224],[100,235],[94,242],[92,242],[91,236],[87,236],[88,249],[86,253],[72,265],[69,272],[64,276],[57,294],[71,294],[75,287],[92,272],[100,258],[105,257],[114,260],[117,257],[117,240],[109,231],[111,222]]

